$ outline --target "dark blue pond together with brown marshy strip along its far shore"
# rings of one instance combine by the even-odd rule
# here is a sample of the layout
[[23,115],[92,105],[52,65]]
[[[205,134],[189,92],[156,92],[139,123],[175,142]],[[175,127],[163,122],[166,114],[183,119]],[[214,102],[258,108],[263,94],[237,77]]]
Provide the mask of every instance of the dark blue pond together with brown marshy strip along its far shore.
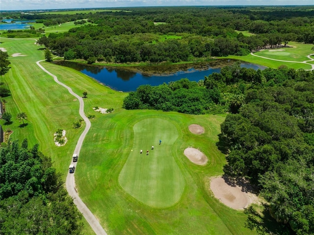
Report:
[[[154,70],[145,71],[144,68],[140,67],[103,67],[78,64],[68,61],[60,61],[56,63],[62,66],[74,68],[105,84],[113,90],[129,92],[135,91],[140,85],[149,84],[157,86],[163,83],[168,84],[170,81],[180,80],[181,78],[188,78],[191,81],[199,81],[212,73],[220,73],[220,68],[222,66],[228,64],[230,65],[234,62],[235,60],[219,60],[218,65],[217,62],[181,65],[179,68],[175,68],[175,71],[177,72],[173,71],[175,67],[173,65],[169,67],[157,66]],[[170,67],[172,67],[172,70],[169,70]],[[252,68],[255,70],[263,70],[266,68],[257,64],[244,62],[241,63],[241,67]]]

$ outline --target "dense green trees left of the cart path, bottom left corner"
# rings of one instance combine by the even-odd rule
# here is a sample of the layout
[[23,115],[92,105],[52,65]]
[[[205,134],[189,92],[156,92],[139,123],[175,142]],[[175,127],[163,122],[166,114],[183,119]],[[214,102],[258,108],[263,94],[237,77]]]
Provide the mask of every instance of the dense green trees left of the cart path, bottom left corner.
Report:
[[1,234],[80,234],[81,214],[38,144],[1,146],[0,178]]

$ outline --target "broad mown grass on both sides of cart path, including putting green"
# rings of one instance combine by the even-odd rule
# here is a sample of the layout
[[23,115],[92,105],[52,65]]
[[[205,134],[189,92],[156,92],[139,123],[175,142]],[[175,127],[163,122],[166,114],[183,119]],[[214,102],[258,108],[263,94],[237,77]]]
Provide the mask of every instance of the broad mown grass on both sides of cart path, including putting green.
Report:
[[[12,139],[27,137],[29,146],[39,143],[65,179],[83,131],[72,128],[79,118],[78,101],[35,64],[44,58],[44,51],[34,40],[0,40],[12,67],[1,78],[12,90],[12,96],[5,98],[7,111],[13,117],[18,112],[28,116],[27,126],[20,127],[13,118],[4,129],[14,131]],[[14,53],[25,56],[11,57]],[[47,62],[42,65],[78,95],[88,93],[84,110],[96,119],[91,120],[80,151],[76,186],[109,235],[256,234],[244,228],[243,211],[226,207],[209,190],[210,177],[221,175],[226,163],[216,146],[224,116],[125,110],[121,107],[126,93],[113,91],[73,69]],[[101,114],[94,106],[115,111]],[[191,124],[201,125],[205,133],[191,133]],[[57,129],[67,131],[68,142],[63,147],[54,145]],[[146,156],[151,145],[155,149],[149,149]],[[209,158],[207,165],[190,162],[183,154],[188,147],[203,152]],[[87,233],[92,234],[85,226]]]

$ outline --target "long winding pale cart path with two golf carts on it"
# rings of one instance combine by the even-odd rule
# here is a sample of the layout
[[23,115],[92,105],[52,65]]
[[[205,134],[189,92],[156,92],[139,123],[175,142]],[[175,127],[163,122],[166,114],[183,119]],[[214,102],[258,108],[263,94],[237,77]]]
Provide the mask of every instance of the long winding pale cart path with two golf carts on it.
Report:
[[[45,61],[45,60],[39,60],[36,62],[36,64],[42,69],[44,70],[47,74],[49,74],[50,76],[52,76],[52,78],[54,79],[54,81],[58,84],[60,84],[61,86],[64,86],[65,88],[68,89],[68,91],[70,92],[70,94],[72,94],[73,96],[75,96],[78,101],[79,101],[79,115],[83,118],[83,120],[86,123],[86,127],[84,129],[84,131],[82,132],[82,134],[79,136],[78,139],[78,143],[77,146],[75,147],[75,151],[74,153],[78,154],[79,156],[79,151],[80,148],[82,147],[82,143],[83,140],[87,134],[87,132],[90,129],[90,121],[89,119],[86,117],[85,113],[84,113],[84,102],[83,102],[83,98],[81,98],[80,96],[78,96],[76,93],[74,93],[71,89],[71,87],[63,84],[62,82],[60,82],[57,77],[55,75],[53,75],[52,73],[50,73],[48,70],[46,70],[41,64],[40,62]],[[79,158],[79,157],[78,157]],[[72,161],[72,156],[71,156],[71,161]],[[72,162],[75,166],[77,165],[77,162]],[[96,217],[92,214],[92,212],[86,207],[86,205],[82,202],[82,200],[79,198],[78,196],[78,192],[77,189],[75,187],[75,179],[74,179],[74,173],[70,174],[68,171],[68,176],[67,176],[67,180],[66,180],[66,188],[68,193],[70,194],[71,197],[73,197],[74,199],[74,204],[78,207],[78,210],[83,214],[83,216],[85,217],[85,219],[87,220],[87,222],[89,223],[89,225],[92,227],[92,229],[94,230],[94,232],[96,233],[96,235],[107,235],[107,233],[105,232],[105,230],[103,229],[103,227],[100,225],[98,219],[96,219]]]

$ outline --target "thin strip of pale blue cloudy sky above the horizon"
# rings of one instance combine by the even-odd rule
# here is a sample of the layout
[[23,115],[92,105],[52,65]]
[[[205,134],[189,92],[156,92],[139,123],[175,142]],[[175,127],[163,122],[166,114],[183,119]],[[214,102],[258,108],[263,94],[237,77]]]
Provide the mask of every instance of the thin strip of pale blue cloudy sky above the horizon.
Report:
[[197,5],[314,5],[314,0],[0,0],[0,10]]

